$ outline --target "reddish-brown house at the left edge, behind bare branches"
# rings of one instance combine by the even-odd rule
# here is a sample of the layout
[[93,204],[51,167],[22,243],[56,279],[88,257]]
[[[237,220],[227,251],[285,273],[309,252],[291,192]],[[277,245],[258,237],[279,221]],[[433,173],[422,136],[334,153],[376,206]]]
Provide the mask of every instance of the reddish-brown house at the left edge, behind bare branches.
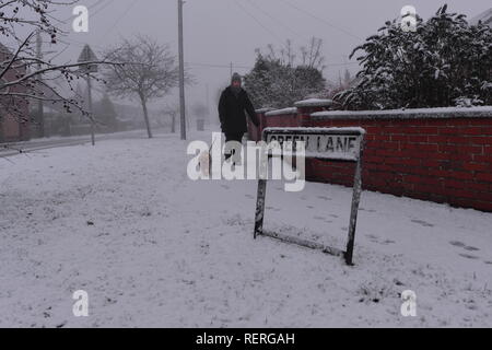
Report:
[[[12,51],[0,43],[0,72],[12,58]],[[25,93],[24,86],[2,89],[2,85],[25,73],[25,68],[9,69],[0,78],[0,143],[26,141],[30,139],[28,102],[25,98],[9,96],[9,92]]]

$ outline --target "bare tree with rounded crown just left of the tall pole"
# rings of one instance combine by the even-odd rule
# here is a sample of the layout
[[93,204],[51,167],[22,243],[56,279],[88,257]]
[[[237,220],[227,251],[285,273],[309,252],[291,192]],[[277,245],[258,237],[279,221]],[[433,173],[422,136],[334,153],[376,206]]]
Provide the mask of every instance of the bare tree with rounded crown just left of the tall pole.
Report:
[[107,52],[107,58],[132,62],[110,67],[104,78],[112,94],[140,102],[149,138],[152,138],[148,103],[165,96],[177,86],[179,75],[176,57],[167,45],[139,35],[133,39],[124,39],[117,48]]

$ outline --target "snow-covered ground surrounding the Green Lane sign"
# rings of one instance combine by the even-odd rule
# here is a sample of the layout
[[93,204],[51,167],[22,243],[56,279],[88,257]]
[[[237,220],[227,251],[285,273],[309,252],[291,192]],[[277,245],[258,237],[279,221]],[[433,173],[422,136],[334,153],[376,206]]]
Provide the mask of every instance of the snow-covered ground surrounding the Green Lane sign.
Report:
[[[0,159],[0,327],[492,326],[491,213],[364,192],[347,267],[254,241],[257,184],[189,180],[186,147],[160,135]],[[271,182],[265,225],[343,248],[350,199]],[[418,317],[400,314],[405,290]]]

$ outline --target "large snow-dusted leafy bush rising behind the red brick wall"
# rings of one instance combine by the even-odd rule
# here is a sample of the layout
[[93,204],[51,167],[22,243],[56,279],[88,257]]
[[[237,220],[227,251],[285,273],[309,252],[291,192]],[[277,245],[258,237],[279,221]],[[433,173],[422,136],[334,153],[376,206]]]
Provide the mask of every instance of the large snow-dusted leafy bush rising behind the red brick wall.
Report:
[[358,46],[358,84],[336,96],[348,109],[492,104],[492,30],[447,7],[405,32],[395,20]]

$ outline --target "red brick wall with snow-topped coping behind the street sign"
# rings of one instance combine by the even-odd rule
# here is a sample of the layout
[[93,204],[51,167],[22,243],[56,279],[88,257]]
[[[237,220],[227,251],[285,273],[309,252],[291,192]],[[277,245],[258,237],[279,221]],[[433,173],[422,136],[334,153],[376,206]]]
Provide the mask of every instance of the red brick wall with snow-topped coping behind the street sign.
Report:
[[[367,190],[492,211],[492,107],[477,114],[332,112],[311,119],[300,114],[298,119],[305,127],[356,126],[367,131]],[[306,172],[309,180],[352,186],[354,165],[308,160]]]

